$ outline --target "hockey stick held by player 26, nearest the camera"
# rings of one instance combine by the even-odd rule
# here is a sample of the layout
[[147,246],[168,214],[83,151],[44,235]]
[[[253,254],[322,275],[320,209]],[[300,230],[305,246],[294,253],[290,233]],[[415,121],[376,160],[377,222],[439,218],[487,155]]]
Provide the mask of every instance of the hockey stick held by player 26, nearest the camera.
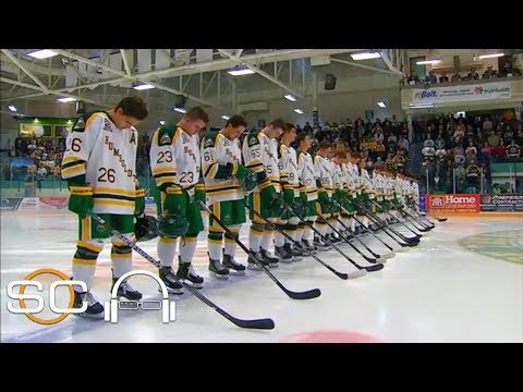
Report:
[[[93,211],[89,211],[88,215],[96,220],[98,223],[105,225],[107,228],[107,222],[98,217],[96,213]],[[149,254],[147,254],[145,250],[143,250],[139,246],[137,246],[135,243],[130,241],[125,235],[120,233],[118,230],[110,229],[110,232],[112,235],[118,236],[120,240],[125,242],[129,246],[131,246],[137,254],[142,255],[147,261],[153,264],[155,267],[160,268],[160,261],[156,260]],[[178,283],[182,284],[186,290],[188,290],[191,293],[194,294],[198,299],[200,299],[205,305],[211,307],[216,311],[218,311],[221,316],[227,318],[229,321],[234,323],[235,326],[240,328],[248,328],[248,329],[275,329],[275,321],[270,318],[265,318],[265,319],[254,319],[254,320],[244,320],[244,319],[239,319],[236,317],[231,316],[228,314],[226,310],[220,308],[218,305],[212,303],[209,298],[207,298],[205,295],[200,294],[197,289],[191,286],[191,284],[185,283],[182,280],[178,280]]]

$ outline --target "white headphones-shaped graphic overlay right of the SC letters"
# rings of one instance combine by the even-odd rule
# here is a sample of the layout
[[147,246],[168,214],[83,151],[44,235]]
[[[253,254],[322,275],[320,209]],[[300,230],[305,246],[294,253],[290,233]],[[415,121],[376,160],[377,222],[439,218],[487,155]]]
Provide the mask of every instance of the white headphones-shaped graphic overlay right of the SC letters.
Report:
[[[129,277],[135,274],[145,274],[158,282],[160,285],[161,294],[163,299],[160,302],[158,299],[147,299],[147,301],[119,301],[117,298],[118,287],[120,284],[127,279]],[[142,307],[143,310],[159,310],[161,309],[161,322],[168,323],[169,321],[177,320],[177,303],[174,301],[169,301],[169,294],[167,292],[166,284],[161,279],[154,274],[153,272],[145,270],[135,270],[124,273],[120,279],[114,283],[111,292],[111,301],[105,303],[104,309],[104,319],[110,322],[118,322],[118,310],[137,310]]]

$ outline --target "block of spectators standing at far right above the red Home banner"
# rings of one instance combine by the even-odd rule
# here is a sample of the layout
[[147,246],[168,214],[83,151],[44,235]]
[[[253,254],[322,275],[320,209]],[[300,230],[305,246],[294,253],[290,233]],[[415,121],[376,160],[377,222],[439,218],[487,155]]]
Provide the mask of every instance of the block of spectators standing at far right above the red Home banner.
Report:
[[437,189],[476,193],[496,188],[491,184],[491,158],[522,157],[523,128],[521,121],[502,115],[440,115],[424,124],[413,121],[414,140],[423,142],[423,164]]

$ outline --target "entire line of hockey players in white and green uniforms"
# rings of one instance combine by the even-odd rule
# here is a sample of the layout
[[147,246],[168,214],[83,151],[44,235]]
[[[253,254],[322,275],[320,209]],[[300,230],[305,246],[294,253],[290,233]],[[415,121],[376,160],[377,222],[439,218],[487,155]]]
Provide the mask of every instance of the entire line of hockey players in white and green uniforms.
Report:
[[[399,217],[396,205],[417,211],[415,182],[377,170],[370,176],[357,152],[333,152],[331,144],[323,142],[312,155],[309,136],[296,135],[295,127],[281,119],[248,133],[241,143],[247,127],[241,115],[231,117],[219,132],[203,132],[208,117],[196,107],[177,124],[159,127],[153,136],[151,193],[158,212],[155,228],[155,220],[144,216],[145,189],[135,188],[134,175],[134,126],[147,113],[138,110],[138,115],[136,108],[134,112],[131,109],[119,106],[81,118],[68,136],[62,176],[70,181],[69,207],[80,219],[73,279],[85,281],[88,287],[87,292],[75,287],[74,306],[87,301],[85,316],[104,314],[102,305],[89,290],[104,238],[111,236],[110,229],[132,241],[159,236],[159,277],[170,293],[182,294],[180,280],[195,287],[204,283],[192,266],[197,236],[204,231],[200,203],[229,229],[224,232],[212,216],[208,218],[208,269],[220,279],[230,273],[243,274],[246,268],[273,268],[279,262],[300,261],[318,250],[328,250],[341,241],[330,225],[342,233],[344,225],[357,234],[361,228],[354,215],[361,215],[357,220],[366,226],[373,225],[364,208],[386,222],[390,222],[390,213]],[[294,143],[296,149],[291,147]],[[105,215],[110,226],[92,224],[89,211]],[[236,242],[247,213],[251,255],[245,266],[236,259]],[[132,216],[134,230],[122,219]],[[132,249],[114,236],[111,242],[114,284],[131,270]],[[269,250],[272,247],[273,253]],[[119,287],[118,295],[142,297],[129,282]]]

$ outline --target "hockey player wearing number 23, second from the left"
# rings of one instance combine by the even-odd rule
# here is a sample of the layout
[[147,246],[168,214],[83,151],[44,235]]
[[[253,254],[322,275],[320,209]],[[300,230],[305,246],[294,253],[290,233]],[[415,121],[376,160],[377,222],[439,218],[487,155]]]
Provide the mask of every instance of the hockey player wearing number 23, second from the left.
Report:
[[196,250],[196,237],[204,230],[198,204],[205,201],[205,186],[199,181],[198,133],[208,121],[202,108],[192,108],[177,125],[159,127],[150,144],[150,169],[156,180],[155,198],[159,217],[159,277],[168,291],[174,294],[183,294],[182,285],[172,272],[178,237],[178,279],[197,289],[204,283],[204,278],[194,271],[191,261]]

